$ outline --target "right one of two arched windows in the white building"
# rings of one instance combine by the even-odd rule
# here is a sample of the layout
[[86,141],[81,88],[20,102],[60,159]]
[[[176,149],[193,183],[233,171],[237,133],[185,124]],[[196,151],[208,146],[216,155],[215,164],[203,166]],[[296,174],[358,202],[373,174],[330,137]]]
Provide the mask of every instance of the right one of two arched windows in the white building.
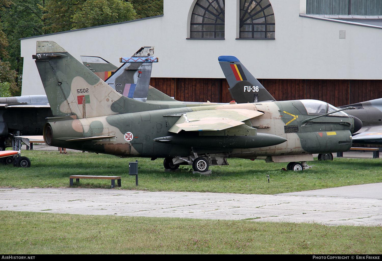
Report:
[[239,39],[275,39],[275,15],[269,0],[240,0],[239,28]]

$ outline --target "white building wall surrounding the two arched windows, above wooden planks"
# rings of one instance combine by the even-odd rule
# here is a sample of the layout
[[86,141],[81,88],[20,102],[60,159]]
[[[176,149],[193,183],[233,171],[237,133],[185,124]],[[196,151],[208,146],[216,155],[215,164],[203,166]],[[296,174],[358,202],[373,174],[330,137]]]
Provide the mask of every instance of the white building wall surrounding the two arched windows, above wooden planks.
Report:
[[[37,40],[55,41],[78,60],[101,56],[117,66],[119,57],[155,46],[152,77],[223,78],[217,58],[234,55],[262,79],[382,79],[381,29],[303,18],[304,0],[270,0],[275,40],[235,40],[238,1],[225,1],[225,40],[186,40],[196,0],[164,0],[157,18],[23,39],[22,95],[44,94],[32,60]],[[346,39],[339,39],[342,30]]]

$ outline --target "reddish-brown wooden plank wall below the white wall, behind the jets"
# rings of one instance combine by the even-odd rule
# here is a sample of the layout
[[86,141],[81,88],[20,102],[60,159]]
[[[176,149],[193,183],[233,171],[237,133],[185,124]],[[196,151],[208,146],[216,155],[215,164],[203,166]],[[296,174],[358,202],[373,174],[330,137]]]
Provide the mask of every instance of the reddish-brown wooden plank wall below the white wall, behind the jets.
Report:
[[[314,99],[342,106],[382,98],[382,80],[258,80],[278,101]],[[225,79],[151,78],[150,85],[180,101],[232,100]]]

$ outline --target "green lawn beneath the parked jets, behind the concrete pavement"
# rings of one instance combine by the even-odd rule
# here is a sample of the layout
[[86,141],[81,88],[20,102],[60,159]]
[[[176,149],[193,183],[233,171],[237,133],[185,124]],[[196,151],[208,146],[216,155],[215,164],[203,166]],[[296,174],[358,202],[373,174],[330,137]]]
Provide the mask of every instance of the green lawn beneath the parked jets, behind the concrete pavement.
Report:
[[[382,182],[381,159],[334,158],[311,161],[311,169],[282,171],[286,163],[228,159],[229,166],[210,166],[212,174],[193,174],[191,166],[165,172],[163,159],[118,158],[95,153],[58,154],[58,151],[23,151],[30,168],[1,165],[0,187],[69,187],[70,175],[121,176],[121,189],[275,194]],[[129,176],[129,161],[138,159],[139,186]],[[270,183],[267,181],[270,176]],[[110,188],[110,180],[82,179],[81,188]],[[117,188],[119,189],[119,188]]]

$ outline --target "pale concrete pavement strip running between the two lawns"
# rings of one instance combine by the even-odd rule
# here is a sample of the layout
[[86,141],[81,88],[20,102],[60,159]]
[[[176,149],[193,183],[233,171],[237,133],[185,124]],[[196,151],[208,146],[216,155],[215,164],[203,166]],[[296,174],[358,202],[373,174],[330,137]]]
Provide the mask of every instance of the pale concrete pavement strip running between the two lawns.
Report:
[[382,183],[277,195],[0,188],[0,210],[377,226]]

